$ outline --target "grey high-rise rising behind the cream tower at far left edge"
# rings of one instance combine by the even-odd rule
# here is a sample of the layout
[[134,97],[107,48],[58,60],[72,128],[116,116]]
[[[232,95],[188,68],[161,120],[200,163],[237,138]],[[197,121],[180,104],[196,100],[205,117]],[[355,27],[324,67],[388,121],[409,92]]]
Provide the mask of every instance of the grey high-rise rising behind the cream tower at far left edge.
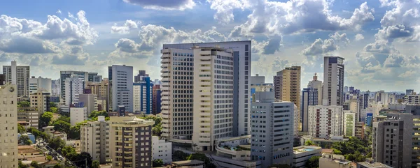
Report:
[[16,61],[12,61],[11,66],[3,66],[6,83],[16,84],[18,97],[29,96],[29,69],[29,66],[17,66]]

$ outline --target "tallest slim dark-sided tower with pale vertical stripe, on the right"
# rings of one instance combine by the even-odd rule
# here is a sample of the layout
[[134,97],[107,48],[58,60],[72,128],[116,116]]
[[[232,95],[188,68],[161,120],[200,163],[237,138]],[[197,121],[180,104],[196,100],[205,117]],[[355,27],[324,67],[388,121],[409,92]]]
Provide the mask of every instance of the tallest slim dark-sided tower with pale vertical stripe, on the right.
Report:
[[325,56],[323,74],[323,100],[327,100],[328,105],[343,105],[344,59]]

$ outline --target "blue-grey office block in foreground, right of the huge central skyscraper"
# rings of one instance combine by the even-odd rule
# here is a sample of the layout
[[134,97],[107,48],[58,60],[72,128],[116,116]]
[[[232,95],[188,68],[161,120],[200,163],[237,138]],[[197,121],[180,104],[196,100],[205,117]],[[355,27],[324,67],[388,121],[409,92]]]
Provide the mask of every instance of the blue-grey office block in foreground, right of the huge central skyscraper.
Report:
[[256,92],[251,103],[251,160],[261,167],[291,165],[293,160],[293,102],[276,102],[273,92]]

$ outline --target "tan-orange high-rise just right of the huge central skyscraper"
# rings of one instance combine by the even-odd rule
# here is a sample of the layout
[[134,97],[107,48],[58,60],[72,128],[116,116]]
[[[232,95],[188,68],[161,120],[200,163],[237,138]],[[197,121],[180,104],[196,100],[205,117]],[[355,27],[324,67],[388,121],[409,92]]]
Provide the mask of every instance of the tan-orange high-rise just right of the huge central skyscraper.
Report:
[[300,66],[277,72],[273,82],[276,99],[293,102],[300,108]]

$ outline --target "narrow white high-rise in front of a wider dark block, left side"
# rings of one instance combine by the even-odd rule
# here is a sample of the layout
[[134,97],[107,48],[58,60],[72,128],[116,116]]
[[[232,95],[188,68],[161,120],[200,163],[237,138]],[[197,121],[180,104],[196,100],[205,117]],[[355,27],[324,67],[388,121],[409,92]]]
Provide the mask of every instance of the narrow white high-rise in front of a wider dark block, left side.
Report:
[[83,94],[85,80],[78,75],[67,77],[64,81],[64,104],[69,106],[76,103],[76,96]]

